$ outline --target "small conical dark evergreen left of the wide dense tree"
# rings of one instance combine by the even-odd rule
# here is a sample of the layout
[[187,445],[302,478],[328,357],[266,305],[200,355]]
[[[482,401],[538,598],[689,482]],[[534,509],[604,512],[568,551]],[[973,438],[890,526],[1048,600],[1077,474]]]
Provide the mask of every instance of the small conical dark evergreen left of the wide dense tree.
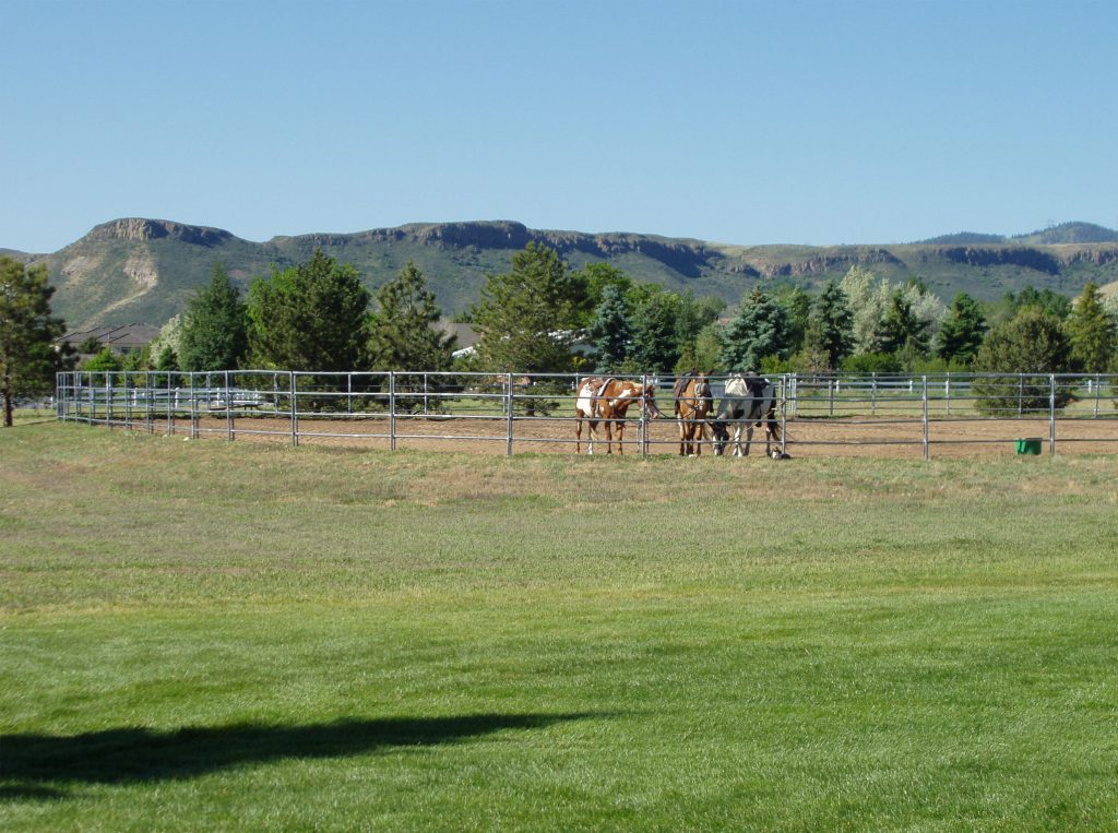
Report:
[[179,334],[182,369],[237,367],[248,349],[247,326],[240,291],[229,281],[225,265],[217,263],[210,272],[209,285],[187,303]]

